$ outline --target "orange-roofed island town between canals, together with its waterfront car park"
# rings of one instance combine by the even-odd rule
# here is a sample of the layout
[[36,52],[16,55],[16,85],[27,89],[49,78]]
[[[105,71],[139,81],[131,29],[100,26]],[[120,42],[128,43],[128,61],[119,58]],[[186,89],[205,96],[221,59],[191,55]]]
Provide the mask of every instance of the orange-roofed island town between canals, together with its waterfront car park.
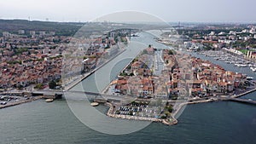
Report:
[[[160,66],[161,63],[164,66]],[[161,71],[160,74],[156,73],[157,71]],[[242,91],[252,85],[254,84],[247,80],[245,74],[225,71],[223,67],[208,60],[201,60],[179,51],[154,49],[149,45],[125,66],[118,78],[105,89],[105,93],[137,98],[137,101],[128,104],[115,104],[116,111],[112,110],[112,113],[121,114],[123,118],[131,115],[142,117],[137,119],[144,120],[145,116],[158,121],[158,118],[171,118],[172,110],[163,111],[162,102],[150,107],[148,100],[199,101],[207,100],[209,97],[213,100],[221,95],[234,95],[236,91]],[[172,109],[173,105],[167,104],[165,107]],[[145,112],[154,114],[150,116]],[[173,118],[171,121],[174,122]]]

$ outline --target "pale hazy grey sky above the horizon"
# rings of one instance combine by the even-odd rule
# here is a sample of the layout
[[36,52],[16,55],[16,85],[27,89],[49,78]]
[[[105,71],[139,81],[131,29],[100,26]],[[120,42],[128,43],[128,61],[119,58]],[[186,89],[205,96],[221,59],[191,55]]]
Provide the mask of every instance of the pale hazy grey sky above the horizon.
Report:
[[168,22],[256,23],[255,5],[255,0],[0,0],[0,19],[84,22],[137,11]]

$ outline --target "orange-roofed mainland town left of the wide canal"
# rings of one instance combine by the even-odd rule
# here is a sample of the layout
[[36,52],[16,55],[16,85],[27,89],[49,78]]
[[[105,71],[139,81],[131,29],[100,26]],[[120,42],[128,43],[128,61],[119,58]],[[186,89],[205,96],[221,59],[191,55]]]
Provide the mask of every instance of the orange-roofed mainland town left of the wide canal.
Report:
[[[84,44],[79,51],[82,56],[76,55],[77,60],[67,57],[73,49],[68,43],[73,42]],[[62,89],[63,84],[73,80],[72,76],[92,71],[116,55],[125,43],[126,35],[118,37],[115,32],[83,40],[52,31],[3,32],[0,37],[0,90]],[[67,77],[66,82],[62,82],[66,79],[61,79],[61,75]]]

